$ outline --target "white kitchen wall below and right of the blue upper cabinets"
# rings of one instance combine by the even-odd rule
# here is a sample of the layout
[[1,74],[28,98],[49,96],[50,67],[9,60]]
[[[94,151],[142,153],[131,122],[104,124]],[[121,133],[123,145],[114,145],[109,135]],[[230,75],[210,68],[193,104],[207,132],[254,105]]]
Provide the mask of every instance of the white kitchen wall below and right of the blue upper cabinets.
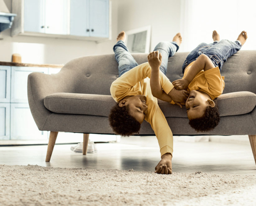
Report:
[[[117,1],[112,1],[112,40],[96,44],[95,42],[55,39],[47,37],[10,36],[10,29],[0,33],[0,61],[11,61],[18,53],[23,63],[65,64],[68,61],[87,55],[113,54],[113,45],[117,36]],[[4,0],[11,12],[11,0]]]

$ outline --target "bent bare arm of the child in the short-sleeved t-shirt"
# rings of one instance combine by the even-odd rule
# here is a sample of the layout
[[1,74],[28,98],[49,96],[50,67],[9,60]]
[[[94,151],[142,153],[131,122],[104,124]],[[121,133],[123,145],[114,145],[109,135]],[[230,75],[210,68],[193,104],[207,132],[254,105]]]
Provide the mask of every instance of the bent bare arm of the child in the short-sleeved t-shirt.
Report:
[[202,54],[198,57],[197,60],[195,60],[184,79],[178,79],[172,83],[177,90],[186,90],[190,82],[194,79],[195,76],[197,76],[200,71],[207,71],[211,68],[215,68],[212,60],[210,60],[210,58],[206,55]]

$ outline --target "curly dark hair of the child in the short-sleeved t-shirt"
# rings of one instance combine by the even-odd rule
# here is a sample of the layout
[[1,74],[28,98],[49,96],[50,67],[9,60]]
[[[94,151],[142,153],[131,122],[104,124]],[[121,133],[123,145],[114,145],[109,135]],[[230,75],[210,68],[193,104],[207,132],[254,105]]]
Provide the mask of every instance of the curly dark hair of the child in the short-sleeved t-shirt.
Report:
[[215,107],[206,107],[205,113],[200,118],[191,119],[189,125],[196,131],[213,130],[220,122],[219,108],[217,100],[214,99]]

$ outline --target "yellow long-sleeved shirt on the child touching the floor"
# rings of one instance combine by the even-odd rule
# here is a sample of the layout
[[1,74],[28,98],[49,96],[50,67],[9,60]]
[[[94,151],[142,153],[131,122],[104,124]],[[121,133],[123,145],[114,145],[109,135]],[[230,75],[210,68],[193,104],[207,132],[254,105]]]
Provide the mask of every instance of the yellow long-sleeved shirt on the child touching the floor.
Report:
[[[117,78],[110,87],[112,97],[116,102],[126,96],[145,95],[147,97],[147,121],[154,130],[161,156],[165,153],[173,153],[173,135],[172,131],[158,106],[157,98],[152,95],[150,88],[151,67],[148,62],[132,68],[130,71]],[[173,89],[173,84],[160,71],[159,72],[161,87],[165,93]]]

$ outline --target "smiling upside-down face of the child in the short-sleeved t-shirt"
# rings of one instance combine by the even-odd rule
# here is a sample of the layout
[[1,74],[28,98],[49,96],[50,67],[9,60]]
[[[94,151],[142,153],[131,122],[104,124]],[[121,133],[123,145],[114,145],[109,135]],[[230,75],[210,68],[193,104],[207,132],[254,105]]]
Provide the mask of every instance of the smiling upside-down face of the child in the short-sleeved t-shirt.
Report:
[[208,106],[215,106],[208,94],[196,90],[190,91],[185,105],[189,120],[202,117]]

